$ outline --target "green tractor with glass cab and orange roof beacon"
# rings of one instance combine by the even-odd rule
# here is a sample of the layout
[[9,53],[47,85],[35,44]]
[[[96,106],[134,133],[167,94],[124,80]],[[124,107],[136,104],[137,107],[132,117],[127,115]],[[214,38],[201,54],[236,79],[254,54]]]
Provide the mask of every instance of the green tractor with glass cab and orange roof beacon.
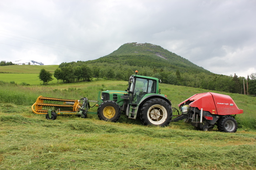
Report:
[[97,111],[101,120],[117,122],[121,113],[128,118],[139,117],[144,125],[168,126],[172,118],[171,102],[160,94],[159,79],[132,75],[125,91],[101,93]]

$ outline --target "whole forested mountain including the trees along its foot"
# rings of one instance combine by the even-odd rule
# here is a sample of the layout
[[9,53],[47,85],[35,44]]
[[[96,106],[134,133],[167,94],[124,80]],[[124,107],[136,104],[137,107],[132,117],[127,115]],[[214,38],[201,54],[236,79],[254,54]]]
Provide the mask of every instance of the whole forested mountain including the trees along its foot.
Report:
[[[92,77],[127,81],[134,71],[157,77],[166,84],[256,94],[256,73],[248,77],[219,75],[199,67],[161,46],[126,43],[111,54],[91,61],[63,62],[54,77],[63,82],[90,81]],[[247,85],[244,85],[248,82]]]

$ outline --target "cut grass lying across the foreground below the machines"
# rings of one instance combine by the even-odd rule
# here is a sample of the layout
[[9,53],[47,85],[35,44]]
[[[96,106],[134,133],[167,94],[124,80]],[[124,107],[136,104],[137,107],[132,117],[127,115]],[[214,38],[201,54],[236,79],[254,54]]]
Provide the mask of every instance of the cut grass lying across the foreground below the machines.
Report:
[[0,169],[256,168],[256,132],[203,132],[183,122],[145,127],[126,120],[122,116],[121,122],[104,122],[90,115],[51,121],[29,107],[0,104]]

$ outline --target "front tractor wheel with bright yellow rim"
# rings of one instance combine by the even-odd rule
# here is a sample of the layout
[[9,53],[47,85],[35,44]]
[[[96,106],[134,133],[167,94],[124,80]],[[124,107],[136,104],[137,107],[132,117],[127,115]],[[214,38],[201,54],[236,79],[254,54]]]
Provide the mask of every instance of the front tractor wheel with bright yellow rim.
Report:
[[117,122],[121,116],[121,109],[119,105],[111,100],[101,103],[98,108],[98,117],[101,120]]

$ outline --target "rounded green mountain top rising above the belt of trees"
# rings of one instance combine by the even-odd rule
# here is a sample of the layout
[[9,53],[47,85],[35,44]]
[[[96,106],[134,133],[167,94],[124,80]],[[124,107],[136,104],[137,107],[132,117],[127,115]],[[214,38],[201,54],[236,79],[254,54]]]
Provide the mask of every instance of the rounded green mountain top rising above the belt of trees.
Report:
[[111,54],[88,61],[89,63],[118,63],[121,65],[151,67],[180,72],[206,72],[203,67],[190,62],[186,58],[150,43],[130,42],[123,44]]

